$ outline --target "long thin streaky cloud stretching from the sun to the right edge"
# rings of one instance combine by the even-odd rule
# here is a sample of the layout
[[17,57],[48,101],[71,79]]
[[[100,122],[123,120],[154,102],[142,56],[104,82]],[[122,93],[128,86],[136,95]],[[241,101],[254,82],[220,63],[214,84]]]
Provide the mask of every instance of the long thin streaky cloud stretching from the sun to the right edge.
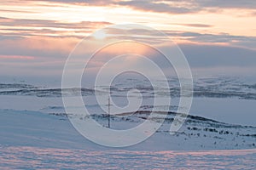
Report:
[[[183,32],[183,31],[162,31],[171,39],[183,39],[189,42],[202,42],[202,43],[219,43],[224,42],[233,46],[241,46],[244,48],[254,48],[256,45],[256,37],[246,37],[246,36],[233,36],[227,33],[219,33],[219,34],[201,34],[198,32]],[[134,40],[141,40],[143,42],[152,42],[159,43],[162,40],[166,40],[166,37],[163,34],[159,34],[157,32],[152,32],[143,29],[131,29],[131,30],[119,30],[119,29],[108,29],[108,33],[113,33],[118,37],[132,37]],[[145,37],[143,37],[145,36]]]

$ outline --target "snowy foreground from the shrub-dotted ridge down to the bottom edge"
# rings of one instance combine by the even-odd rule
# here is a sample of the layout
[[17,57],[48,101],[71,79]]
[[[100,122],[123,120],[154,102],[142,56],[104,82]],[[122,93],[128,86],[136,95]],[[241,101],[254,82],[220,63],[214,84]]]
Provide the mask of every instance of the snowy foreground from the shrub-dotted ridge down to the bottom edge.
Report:
[[[141,112],[133,116],[133,121],[137,120],[134,117],[146,116],[146,113]],[[192,116],[185,124],[187,128],[183,130],[184,133],[177,133],[177,136],[171,136],[162,128],[161,132],[155,133],[153,137],[141,144],[113,149],[84,139],[74,130],[65,115],[48,115],[38,111],[1,110],[0,116],[1,169],[256,168],[256,149],[255,146],[250,145],[255,141],[255,136],[243,136],[244,133],[255,133],[255,127],[232,126]],[[97,118],[104,122],[101,116],[97,115]],[[121,119],[115,117],[113,122],[120,123]],[[130,123],[134,123],[133,121]],[[219,134],[209,130],[201,132],[195,129],[195,127],[211,129],[214,127],[212,124],[217,126],[215,128],[218,132],[220,129],[225,129],[233,133],[239,132],[241,136],[226,134],[226,131],[224,131],[225,134]],[[168,122],[165,125],[168,127]],[[197,136],[197,133],[201,136]],[[203,137],[203,135],[207,136]],[[233,137],[236,138],[235,141],[230,140]],[[217,143],[214,144],[213,141]],[[238,145],[234,146],[235,143]],[[254,149],[226,150],[243,147]]]

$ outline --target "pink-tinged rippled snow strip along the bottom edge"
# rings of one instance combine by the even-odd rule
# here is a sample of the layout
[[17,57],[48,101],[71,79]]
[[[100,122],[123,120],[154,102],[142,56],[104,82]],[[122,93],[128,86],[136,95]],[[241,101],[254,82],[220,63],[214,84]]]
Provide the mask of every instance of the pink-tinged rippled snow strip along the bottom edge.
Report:
[[[256,150],[61,150],[0,146],[0,168],[10,169],[255,169]],[[10,157],[11,156],[11,157]]]

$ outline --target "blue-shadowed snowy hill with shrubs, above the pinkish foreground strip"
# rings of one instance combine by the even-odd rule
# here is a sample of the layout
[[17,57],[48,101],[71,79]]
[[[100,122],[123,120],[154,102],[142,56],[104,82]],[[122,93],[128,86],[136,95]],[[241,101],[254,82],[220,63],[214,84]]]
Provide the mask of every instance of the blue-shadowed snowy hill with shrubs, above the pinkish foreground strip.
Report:
[[[150,111],[137,111],[111,116],[111,128],[135,127],[148,118]],[[153,122],[160,121],[163,112],[154,112]],[[217,122],[201,116],[188,116],[183,127],[170,134],[176,114],[169,112],[162,127],[143,143],[129,150],[237,150],[256,148],[256,127]],[[0,111],[0,144],[10,146],[40,146],[66,149],[102,150],[81,136],[66,114],[45,114],[36,111]],[[107,126],[106,115],[91,115],[102,126]],[[86,117],[84,118],[86,119]],[[84,122],[85,123],[85,122]]]

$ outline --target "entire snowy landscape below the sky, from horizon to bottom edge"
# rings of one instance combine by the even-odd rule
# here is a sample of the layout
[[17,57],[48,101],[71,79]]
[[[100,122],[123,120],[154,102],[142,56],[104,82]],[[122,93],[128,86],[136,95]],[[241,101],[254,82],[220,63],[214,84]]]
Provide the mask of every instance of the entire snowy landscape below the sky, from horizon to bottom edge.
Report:
[[[61,88],[1,83],[0,169],[256,169],[255,83],[232,78],[196,80],[190,115],[171,135],[178,86],[176,80],[170,82],[170,111],[163,112],[165,105],[154,105],[150,119],[159,122],[167,114],[163,125],[147,140],[125,148],[104,147],[79,134],[68,117],[84,123],[87,117],[66,114]],[[127,91],[134,87],[143,94],[143,105],[138,111],[112,115],[111,128],[136,127],[148,119],[154,95],[147,83],[116,82],[113,101],[127,105]],[[106,87],[97,89],[104,94]],[[96,104],[92,88],[82,88],[81,93],[90,116],[107,127],[108,117],[101,109],[106,105]],[[78,88],[63,93],[78,94]],[[155,94],[158,98],[169,95],[160,82]]]

